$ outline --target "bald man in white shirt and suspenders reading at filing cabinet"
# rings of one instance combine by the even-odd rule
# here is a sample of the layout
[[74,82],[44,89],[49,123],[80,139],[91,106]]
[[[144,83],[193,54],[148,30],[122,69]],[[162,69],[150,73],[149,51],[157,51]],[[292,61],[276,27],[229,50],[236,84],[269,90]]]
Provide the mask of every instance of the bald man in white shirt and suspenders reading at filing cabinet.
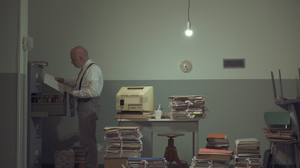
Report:
[[70,52],[71,63],[81,71],[77,79],[56,77],[59,83],[72,88],[65,92],[77,97],[77,115],[79,120],[79,138],[84,148],[86,167],[98,167],[96,141],[96,120],[100,115],[100,93],[103,88],[103,75],[100,67],[93,62],[86,48],[77,46]]

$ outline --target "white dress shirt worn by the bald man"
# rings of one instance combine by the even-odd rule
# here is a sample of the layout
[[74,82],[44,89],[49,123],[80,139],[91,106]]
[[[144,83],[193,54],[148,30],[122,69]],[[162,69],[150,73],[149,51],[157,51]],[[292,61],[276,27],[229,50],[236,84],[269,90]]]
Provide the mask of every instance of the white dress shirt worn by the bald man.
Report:
[[[103,88],[103,75],[100,67],[91,59],[86,61],[79,74],[78,80],[65,79],[65,84],[74,87],[73,96],[78,98],[100,97]],[[89,64],[92,64],[89,66]],[[86,69],[89,66],[89,69]],[[86,71],[86,73],[84,73]],[[79,90],[79,83],[82,75],[84,78],[81,82],[81,89]]]

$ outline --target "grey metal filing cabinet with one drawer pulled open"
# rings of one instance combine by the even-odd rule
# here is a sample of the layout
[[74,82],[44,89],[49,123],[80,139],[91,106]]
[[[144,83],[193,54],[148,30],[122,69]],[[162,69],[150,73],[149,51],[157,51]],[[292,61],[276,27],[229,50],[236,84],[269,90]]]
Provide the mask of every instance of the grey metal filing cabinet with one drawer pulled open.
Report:
[[74,99],[70,94],[44,94],[43,66],[28,63],[27,68],[27,168],[40,168],[42,118],[74,116]]

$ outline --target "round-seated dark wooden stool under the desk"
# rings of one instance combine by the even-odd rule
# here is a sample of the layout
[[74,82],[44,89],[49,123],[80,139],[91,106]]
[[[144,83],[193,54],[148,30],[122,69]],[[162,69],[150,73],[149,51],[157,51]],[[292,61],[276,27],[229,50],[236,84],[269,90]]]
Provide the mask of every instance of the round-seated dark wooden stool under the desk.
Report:
[[163,137],[169,137],[168,139],[168,146],[166,147],[166,150],[164,151],[164,158],[169,162],[169,167],[172,167],[172,162],[176,162],[180,167],[187,168],[188,163],[187,162],[181,162],[179,160],[177,155],[176,147],[174,146],[174,139],[175,137],[183,136],[184,134],[181,133],[162,133],[157,134],[158,136]]

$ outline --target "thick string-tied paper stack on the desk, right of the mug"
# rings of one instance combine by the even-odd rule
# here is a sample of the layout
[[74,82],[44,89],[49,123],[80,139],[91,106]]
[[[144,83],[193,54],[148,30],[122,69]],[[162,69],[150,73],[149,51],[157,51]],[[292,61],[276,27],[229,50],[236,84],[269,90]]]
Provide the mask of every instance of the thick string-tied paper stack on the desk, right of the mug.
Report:
[[205,118],[205,97],[198,95],[170,96],[171,118]]

